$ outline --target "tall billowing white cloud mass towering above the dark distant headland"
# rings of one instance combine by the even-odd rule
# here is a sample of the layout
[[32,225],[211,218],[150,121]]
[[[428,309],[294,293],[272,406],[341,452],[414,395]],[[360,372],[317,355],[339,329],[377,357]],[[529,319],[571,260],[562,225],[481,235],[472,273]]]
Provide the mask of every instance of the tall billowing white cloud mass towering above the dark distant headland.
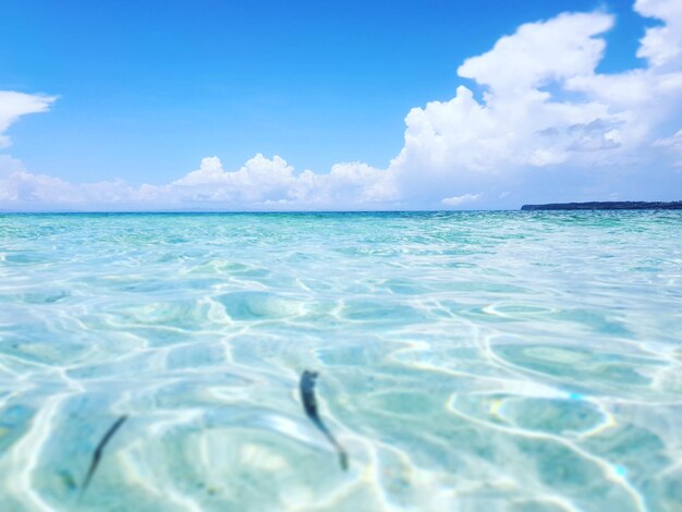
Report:
[[[681,5],[637,1],[637,12],[663,25],[641,41],[638,54],[649,65],[616,74],[596,71],[613,16],[564,13],[522,25],[459,68],[480,99],[460,86],[451,100],[407,114],[405,144],[390,169],[422,196],[456,197],[477,187],[516,188],[510,197],[528,197],[534,188],[547,199],[560,193],[598,199],[624,181],[638,182],[646,194],[679,184],[654,142],[682,124]],[[651,167],[665,173],[658,191]]]

